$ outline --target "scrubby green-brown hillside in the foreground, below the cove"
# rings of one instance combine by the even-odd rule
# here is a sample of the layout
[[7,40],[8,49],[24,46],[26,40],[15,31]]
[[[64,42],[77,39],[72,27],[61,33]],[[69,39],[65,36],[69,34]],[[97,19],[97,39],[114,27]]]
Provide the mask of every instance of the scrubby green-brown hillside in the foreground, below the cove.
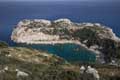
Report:
[[[83,64],[81,64],[83,65]],[[0,80],[119,80],[120,68],[94,65],[82,72],[81,65],[72,65],[47,52],[23,47],[9,47],[0,42]]]

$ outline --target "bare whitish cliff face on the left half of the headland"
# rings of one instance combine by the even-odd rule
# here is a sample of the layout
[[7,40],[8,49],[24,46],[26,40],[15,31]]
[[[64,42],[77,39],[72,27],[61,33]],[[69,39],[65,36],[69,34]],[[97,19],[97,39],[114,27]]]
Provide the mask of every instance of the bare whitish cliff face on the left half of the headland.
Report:
[[[18,42],[29,42],[29,41],[52,41],[52,40],[59,40],[59,36],[57,35],[47,35],[42,32],[39,33],[26,33],[20,34],[19,38],[17,39]],[[24,35],[24,36],[23,36]],[[39,36],[39,37],[38,37]]]

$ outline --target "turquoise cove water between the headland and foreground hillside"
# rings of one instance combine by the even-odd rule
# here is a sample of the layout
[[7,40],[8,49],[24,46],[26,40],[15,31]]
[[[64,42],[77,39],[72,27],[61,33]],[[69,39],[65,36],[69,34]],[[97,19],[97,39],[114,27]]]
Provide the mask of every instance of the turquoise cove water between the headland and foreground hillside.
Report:
[[49,53],[56,54],[71,62],[95,62],[96,60],[95,53],[88,51],[85,48],[75,44],[56,44],[56,45],[21,44],[21,46],[47,51]]

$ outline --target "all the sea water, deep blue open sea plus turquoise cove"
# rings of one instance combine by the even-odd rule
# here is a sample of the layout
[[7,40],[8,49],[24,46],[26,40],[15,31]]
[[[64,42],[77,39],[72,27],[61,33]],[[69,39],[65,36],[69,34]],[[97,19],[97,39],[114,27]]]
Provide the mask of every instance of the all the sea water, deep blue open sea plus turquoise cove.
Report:
[[[120,36],[120,2],[0,2],[0,40],[10,40],[15,25],[23,19],[69,18],[73,22],[101,23]],[[73,44],[24,45],[59,55],[68,61],[95,61],[93,52]],[[80,49],[78,49],[80,48]]]

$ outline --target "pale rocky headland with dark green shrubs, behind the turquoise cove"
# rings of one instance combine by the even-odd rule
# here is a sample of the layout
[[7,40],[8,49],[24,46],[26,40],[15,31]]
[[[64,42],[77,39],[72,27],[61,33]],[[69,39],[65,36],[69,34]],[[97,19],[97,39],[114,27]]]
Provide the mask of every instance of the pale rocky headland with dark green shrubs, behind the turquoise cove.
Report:
[[74,23],[69,19],[23,20],[13,30],[11,39],[27,44],[79,44],[94,51],[101,63],[120,63],[120,39],[112,29],[98,23]]

